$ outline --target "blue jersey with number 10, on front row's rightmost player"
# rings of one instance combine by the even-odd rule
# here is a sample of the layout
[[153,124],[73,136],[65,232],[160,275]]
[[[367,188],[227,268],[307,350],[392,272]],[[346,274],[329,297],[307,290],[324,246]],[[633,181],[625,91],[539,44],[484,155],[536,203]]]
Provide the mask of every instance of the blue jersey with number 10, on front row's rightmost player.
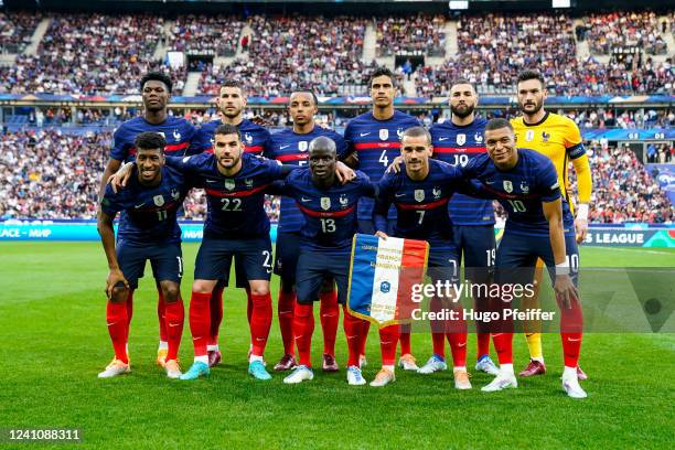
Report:
[[[510,171],[499,170],[488,154],[480,154],[460,170],[480,181],[480,193],[496,199],[508,213],[506,229],[525,236],[548,236],[542,202],[561,197],[553,162],[534,150],[517,149],[518,162]],[[569,204],[562,197],[565,234],[575,233]]]

